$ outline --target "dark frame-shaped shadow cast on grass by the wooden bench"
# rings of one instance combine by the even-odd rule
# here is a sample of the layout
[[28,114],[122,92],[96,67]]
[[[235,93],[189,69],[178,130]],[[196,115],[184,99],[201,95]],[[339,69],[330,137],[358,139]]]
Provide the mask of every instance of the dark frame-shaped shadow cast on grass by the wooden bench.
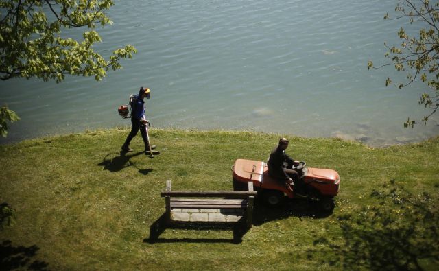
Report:
[[[242,237],[247,233],[245,229],[244,221],[239,221],[235,224],[219,224],[219,223],[206,223],[206,222],[180,222],[178,224],[167,223],[166,213],[163,213],[161,217],[158,218],[150,226],[150,237],[143,239],[144,243],[155,244],[155,243],[230,243],[230,244],[240,244],[242,242]],[[160,235],[166,229],[191,229],[191,230],[213,230],[213,231],[224,231],[232,230],[233,239],[209,239],[209,238],[160,238]]]

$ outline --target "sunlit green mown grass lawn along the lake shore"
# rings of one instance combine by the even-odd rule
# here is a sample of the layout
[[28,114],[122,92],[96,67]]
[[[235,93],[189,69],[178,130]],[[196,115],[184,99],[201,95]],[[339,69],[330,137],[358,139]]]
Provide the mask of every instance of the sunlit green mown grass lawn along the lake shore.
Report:
[[[370,230],[355,217],[366,207],[380,206],[373,196],[375,190],[391,189],[389,183],[394,180],[413,197],[427,192],[433,206],[439,202],[439,138],[368,148],[339,139],[289,137],[290,156],[310,167],[335,169],[340,174],[333,214],[321,215],[313,204],[304,202],[278,210],[257,202],[254,226],[240,244],[233,244],[232,231],[195,229],[167,229],[158,242],[149,244],[145,240],[150,226],[165,211],[160,191],[166,180],[172,181],[175,190],[232,190],[230,167],[235,159],[265,161],[281,135],[154,129],[152,143],[161,154],[150,159],[140,152],[140,137],[132,142],[134,153],[121,156],[127,134],[124,129],[103,130],[0,146],[0,204],[5,202],[16,211],[15,225],[0,231],[3,266],[49,270],[350,269],[348,259],[355,255],[344,248],[353,240],[344,226],[361,228],[362,234]],[[438,221],[437,213],[430,219]],[[418,237],[407,241],[413,246],[423,244]],[[374,243],[365,240],[364,244]],[[413,254],[422,268],[434,270],[438,246],[429,249],[436,259],[426,252]],[[359,259],[357,267],[371,268],[373,253],[365,251],[366,259]],[[335,258],[340,261],[331,261]],[[410,263],[407,268],[416,266]]]

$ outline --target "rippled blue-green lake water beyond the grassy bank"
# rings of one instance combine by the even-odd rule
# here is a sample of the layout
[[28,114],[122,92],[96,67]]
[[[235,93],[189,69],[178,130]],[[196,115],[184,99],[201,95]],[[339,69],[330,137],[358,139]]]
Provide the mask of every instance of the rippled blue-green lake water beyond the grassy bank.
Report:
[[[421,84],[384,64],[403,21],[383,20],[394,0],[115,1],[113,25],[99,30],[103,55],[125,44],[139,51],[102,82],[70,77],[0,82],[0,105],[21,117],[0,143],[130,126],[117,107],[140,86],[152,90],[147,116],[158,128],[256,130],[342,137],[382,146],[439,134],[439,114],[421,119]],[[80,34],[81,32],[76,33]]]

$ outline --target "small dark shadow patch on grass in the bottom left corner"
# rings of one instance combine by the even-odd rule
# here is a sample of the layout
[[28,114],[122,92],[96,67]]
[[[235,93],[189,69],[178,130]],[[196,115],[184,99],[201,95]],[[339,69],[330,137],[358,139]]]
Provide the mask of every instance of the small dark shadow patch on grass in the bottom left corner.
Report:
[[32,261],[39,250],[38,246],[12,246],[9,240],[0,244],[0,270],[48,270],[45,261]]

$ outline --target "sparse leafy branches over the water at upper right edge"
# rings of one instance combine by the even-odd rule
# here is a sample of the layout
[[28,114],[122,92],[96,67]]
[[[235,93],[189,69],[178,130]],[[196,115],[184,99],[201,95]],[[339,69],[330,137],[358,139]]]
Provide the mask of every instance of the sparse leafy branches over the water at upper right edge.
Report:
[[[395,8],[400,15],[394,19],[408,19],[410,24],[421,27],[418,36],[410,36],[401,27],[398,36],[401,39],[399,47],[390,47],[385,57],[390,59],[389,64],[394,65],[396,71],[407,73],[407,82],[399,83],[401,89],[415,80],[427,84],[428,90],[420,95],[419,104],[426,108],[431,108],[429,115],[424,116],[423,123],[427,123],[429,117],[436,113],[439,108],[439,3],[430,3],[429,0],[399,0]],[[386,14],[384,19],[390,19]],[[373,62],[369,60],[368,69],[375,68]],[[380,67],[377,67],[380,68]],[[385,80],[385,86],[392,84],[392,80]],[[414,127],[416,121],[410,118],[404,123],[404,127]]]

